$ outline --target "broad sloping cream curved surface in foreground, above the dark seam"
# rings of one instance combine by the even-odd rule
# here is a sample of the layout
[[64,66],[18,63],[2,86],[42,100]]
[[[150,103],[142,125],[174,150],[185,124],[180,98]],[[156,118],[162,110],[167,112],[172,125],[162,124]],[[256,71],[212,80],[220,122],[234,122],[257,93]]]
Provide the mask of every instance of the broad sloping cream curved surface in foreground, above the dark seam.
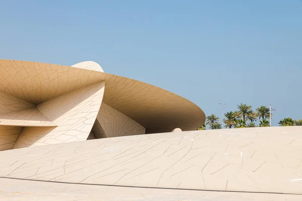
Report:
[[0,176],[302,193],[302,127],[125,136],[0,152]]

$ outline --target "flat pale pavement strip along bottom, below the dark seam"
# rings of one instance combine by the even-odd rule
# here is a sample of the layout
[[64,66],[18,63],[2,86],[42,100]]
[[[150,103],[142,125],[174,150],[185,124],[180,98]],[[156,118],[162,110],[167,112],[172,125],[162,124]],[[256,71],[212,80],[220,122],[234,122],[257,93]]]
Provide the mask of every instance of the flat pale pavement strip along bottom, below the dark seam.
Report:
[[[18,185],[16,185],[18,183]],[[302,195],[120,187],[0,178],[0,200],[300,201]]]

